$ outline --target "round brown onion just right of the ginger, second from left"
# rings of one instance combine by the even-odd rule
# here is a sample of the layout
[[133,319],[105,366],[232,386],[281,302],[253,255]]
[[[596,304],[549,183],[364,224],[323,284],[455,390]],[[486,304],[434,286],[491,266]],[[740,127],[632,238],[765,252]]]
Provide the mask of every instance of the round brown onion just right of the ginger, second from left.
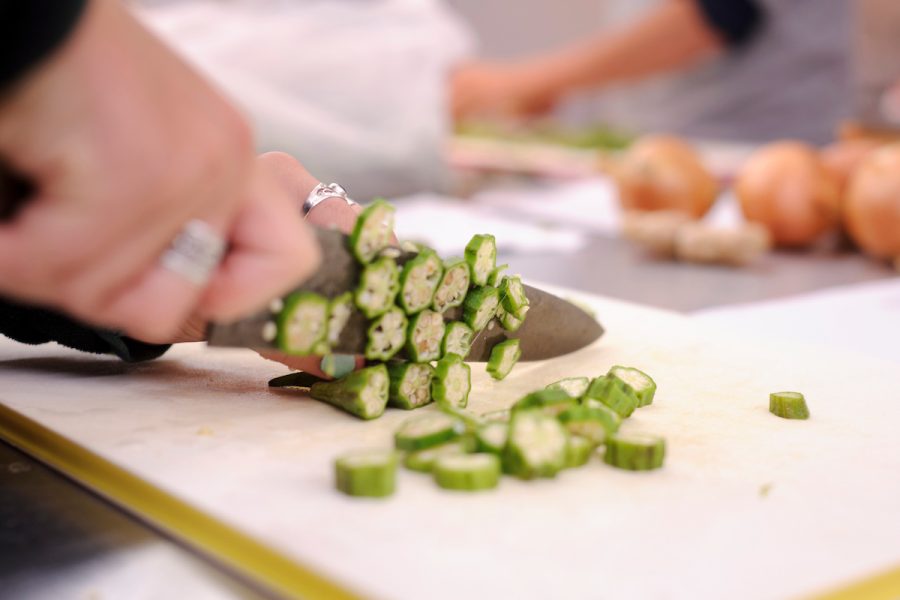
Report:
[[814,148],[778,142],[754,152],[735,193],[748,221],[765,225],[780,246],[806,246],[838,222],[837,184]]

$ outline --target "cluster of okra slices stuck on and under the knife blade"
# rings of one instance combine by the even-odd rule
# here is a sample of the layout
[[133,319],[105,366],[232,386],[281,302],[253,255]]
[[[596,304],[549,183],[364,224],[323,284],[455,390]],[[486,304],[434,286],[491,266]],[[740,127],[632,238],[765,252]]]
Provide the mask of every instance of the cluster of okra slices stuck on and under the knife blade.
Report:
[[[336,298],[292,294],[277,318],[279,348],[326,356],[327,371],[330,349],[353,312],[362,313],[368,322],[367,367],[336,381],[292,374],[270,385],[309,387],[313,398],[362,419],[381,416],[386,406],[466,406],[471,373],[464,358],[486,327],[519,329],[529,308],[525,288],[519,277],[503,275],[505,265],[497,266],[492,235],[474,236],[465,258],[445,261],[429,248],[392,247],[393,228],[390,204],[379,200],[367,207],[349,237],[361,266],[356,290]],[[491,349],[487,371],[503,379],[520,356],[518,339],[502,341]]]

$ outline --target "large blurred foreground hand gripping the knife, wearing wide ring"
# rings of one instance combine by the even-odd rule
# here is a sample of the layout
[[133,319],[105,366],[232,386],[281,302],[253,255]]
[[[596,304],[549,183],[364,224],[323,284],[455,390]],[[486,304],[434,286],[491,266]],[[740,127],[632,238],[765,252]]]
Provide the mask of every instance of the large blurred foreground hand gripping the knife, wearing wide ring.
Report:
[[[37,185],[0,226],[12,297],[171,338],[192,313],[237,316],[317,266],[293,204],[255,172],[243,119],[118,0],[92,0],[4,97],[0,157]],[[206,290],[158,263],[191,219],[232,247]]]

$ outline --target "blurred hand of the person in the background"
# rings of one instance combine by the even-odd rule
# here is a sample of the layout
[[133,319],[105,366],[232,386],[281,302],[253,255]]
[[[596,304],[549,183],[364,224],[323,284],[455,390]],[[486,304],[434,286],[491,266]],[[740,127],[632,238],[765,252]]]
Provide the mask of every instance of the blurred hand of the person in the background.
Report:
[[457,68],[450,81],[453,117],[536,117],[559,101],[538,64],[468,63]]

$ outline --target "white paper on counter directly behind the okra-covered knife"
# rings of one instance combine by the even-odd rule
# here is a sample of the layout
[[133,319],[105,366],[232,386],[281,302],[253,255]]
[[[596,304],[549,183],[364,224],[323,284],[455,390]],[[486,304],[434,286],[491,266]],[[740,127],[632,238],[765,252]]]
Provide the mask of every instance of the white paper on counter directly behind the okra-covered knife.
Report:
[[503,254],[571,253],[587,239],[578,231],[523,221],[485,210],[478,202],[437,194],[410,196],[394,203],[401,240],[423,242],[438,254],[460,256],[476,233],[492,233]]

